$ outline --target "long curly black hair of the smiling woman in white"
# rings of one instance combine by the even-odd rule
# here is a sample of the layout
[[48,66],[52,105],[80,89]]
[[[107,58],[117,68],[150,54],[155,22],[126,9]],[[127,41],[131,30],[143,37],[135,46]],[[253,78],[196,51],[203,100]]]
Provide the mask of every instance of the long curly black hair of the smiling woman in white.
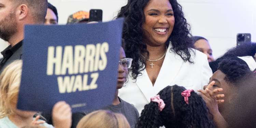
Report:
[[[124,17],[123,39],[126,42],[125,55],[128,58],[133,58],[133,62],[129,72],[132,72],[133,79],[136,79],[140,71],[146,67],[145,60],[141,58],[140,53],[147,53],[147,46],[143,43],[143,28],[142,24],[145,22],[144,8],[150,0],[128,0],[127,5],[123,6],[119,11],[117,17]],[[169,0],[172,5],[175,23],[172,33],[166,42],[172,43],[171,51],[186,62],[194,63],[191,59],[190,49],[194,48],[190,34],[190,25],[184,17],[182,6],[176,0]],[[171,52],[170,51],[170,52]],[[193,51],[195,54],[195,51]],[[141,64],[142,63],[142,64]]]

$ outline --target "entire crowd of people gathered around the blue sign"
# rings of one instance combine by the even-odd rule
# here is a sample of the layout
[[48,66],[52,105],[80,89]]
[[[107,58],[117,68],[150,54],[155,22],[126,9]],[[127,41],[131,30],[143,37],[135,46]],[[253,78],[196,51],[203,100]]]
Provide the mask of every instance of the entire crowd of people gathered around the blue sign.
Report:
[[[57,25],[47,0],[0,0],[0,128],[255,128],[256,44],[246,42],[214,60],[207,39],[193,36],[177,0],[128,0],[113,103],[71,113],[17,109],[26,24]],[[67,24],[88,23],[79,11]]]

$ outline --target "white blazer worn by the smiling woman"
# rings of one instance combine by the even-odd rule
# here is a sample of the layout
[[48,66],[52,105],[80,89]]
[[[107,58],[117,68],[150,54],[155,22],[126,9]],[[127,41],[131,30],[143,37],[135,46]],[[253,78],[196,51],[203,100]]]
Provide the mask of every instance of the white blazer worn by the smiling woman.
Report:
[[118,96],[134,105],[139,113],[144,109],[145,104],[150,103],[151,97],[156,96],[160,90],[168,85],[176,84],[197,92],[197,89],[202,89],[204,85],[209,83],[212,70],[205,54],[193,49],[196,51],[196,56],[190,52],[194,61],[194,64],[191,64],[188,61],[184,62],[175,52],[168,52],[171,47],[170,43],[154,86],[146,70],[143,70],[141,71],[142,75],[138,76],[137,80],[132,80],[129,73],[128,82],[118,90]]

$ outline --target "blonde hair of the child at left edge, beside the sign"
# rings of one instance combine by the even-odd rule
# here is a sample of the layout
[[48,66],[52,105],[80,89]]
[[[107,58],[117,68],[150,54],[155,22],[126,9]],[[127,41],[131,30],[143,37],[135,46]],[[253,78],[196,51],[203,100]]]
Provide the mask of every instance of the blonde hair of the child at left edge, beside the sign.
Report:
[[11,106],[17,103],[21,73],[22,60],[16,60],[0,75],[0,118],[10,115]]

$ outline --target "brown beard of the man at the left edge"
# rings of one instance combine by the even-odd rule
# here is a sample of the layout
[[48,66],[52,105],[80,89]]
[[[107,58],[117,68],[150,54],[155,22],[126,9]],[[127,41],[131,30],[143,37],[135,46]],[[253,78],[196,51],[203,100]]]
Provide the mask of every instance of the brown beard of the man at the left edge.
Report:
[[0,21],[0,38],[4,41],[9,41],[12,35],[17,32],[17,22],[15,17],[15,12],[9,13]]

